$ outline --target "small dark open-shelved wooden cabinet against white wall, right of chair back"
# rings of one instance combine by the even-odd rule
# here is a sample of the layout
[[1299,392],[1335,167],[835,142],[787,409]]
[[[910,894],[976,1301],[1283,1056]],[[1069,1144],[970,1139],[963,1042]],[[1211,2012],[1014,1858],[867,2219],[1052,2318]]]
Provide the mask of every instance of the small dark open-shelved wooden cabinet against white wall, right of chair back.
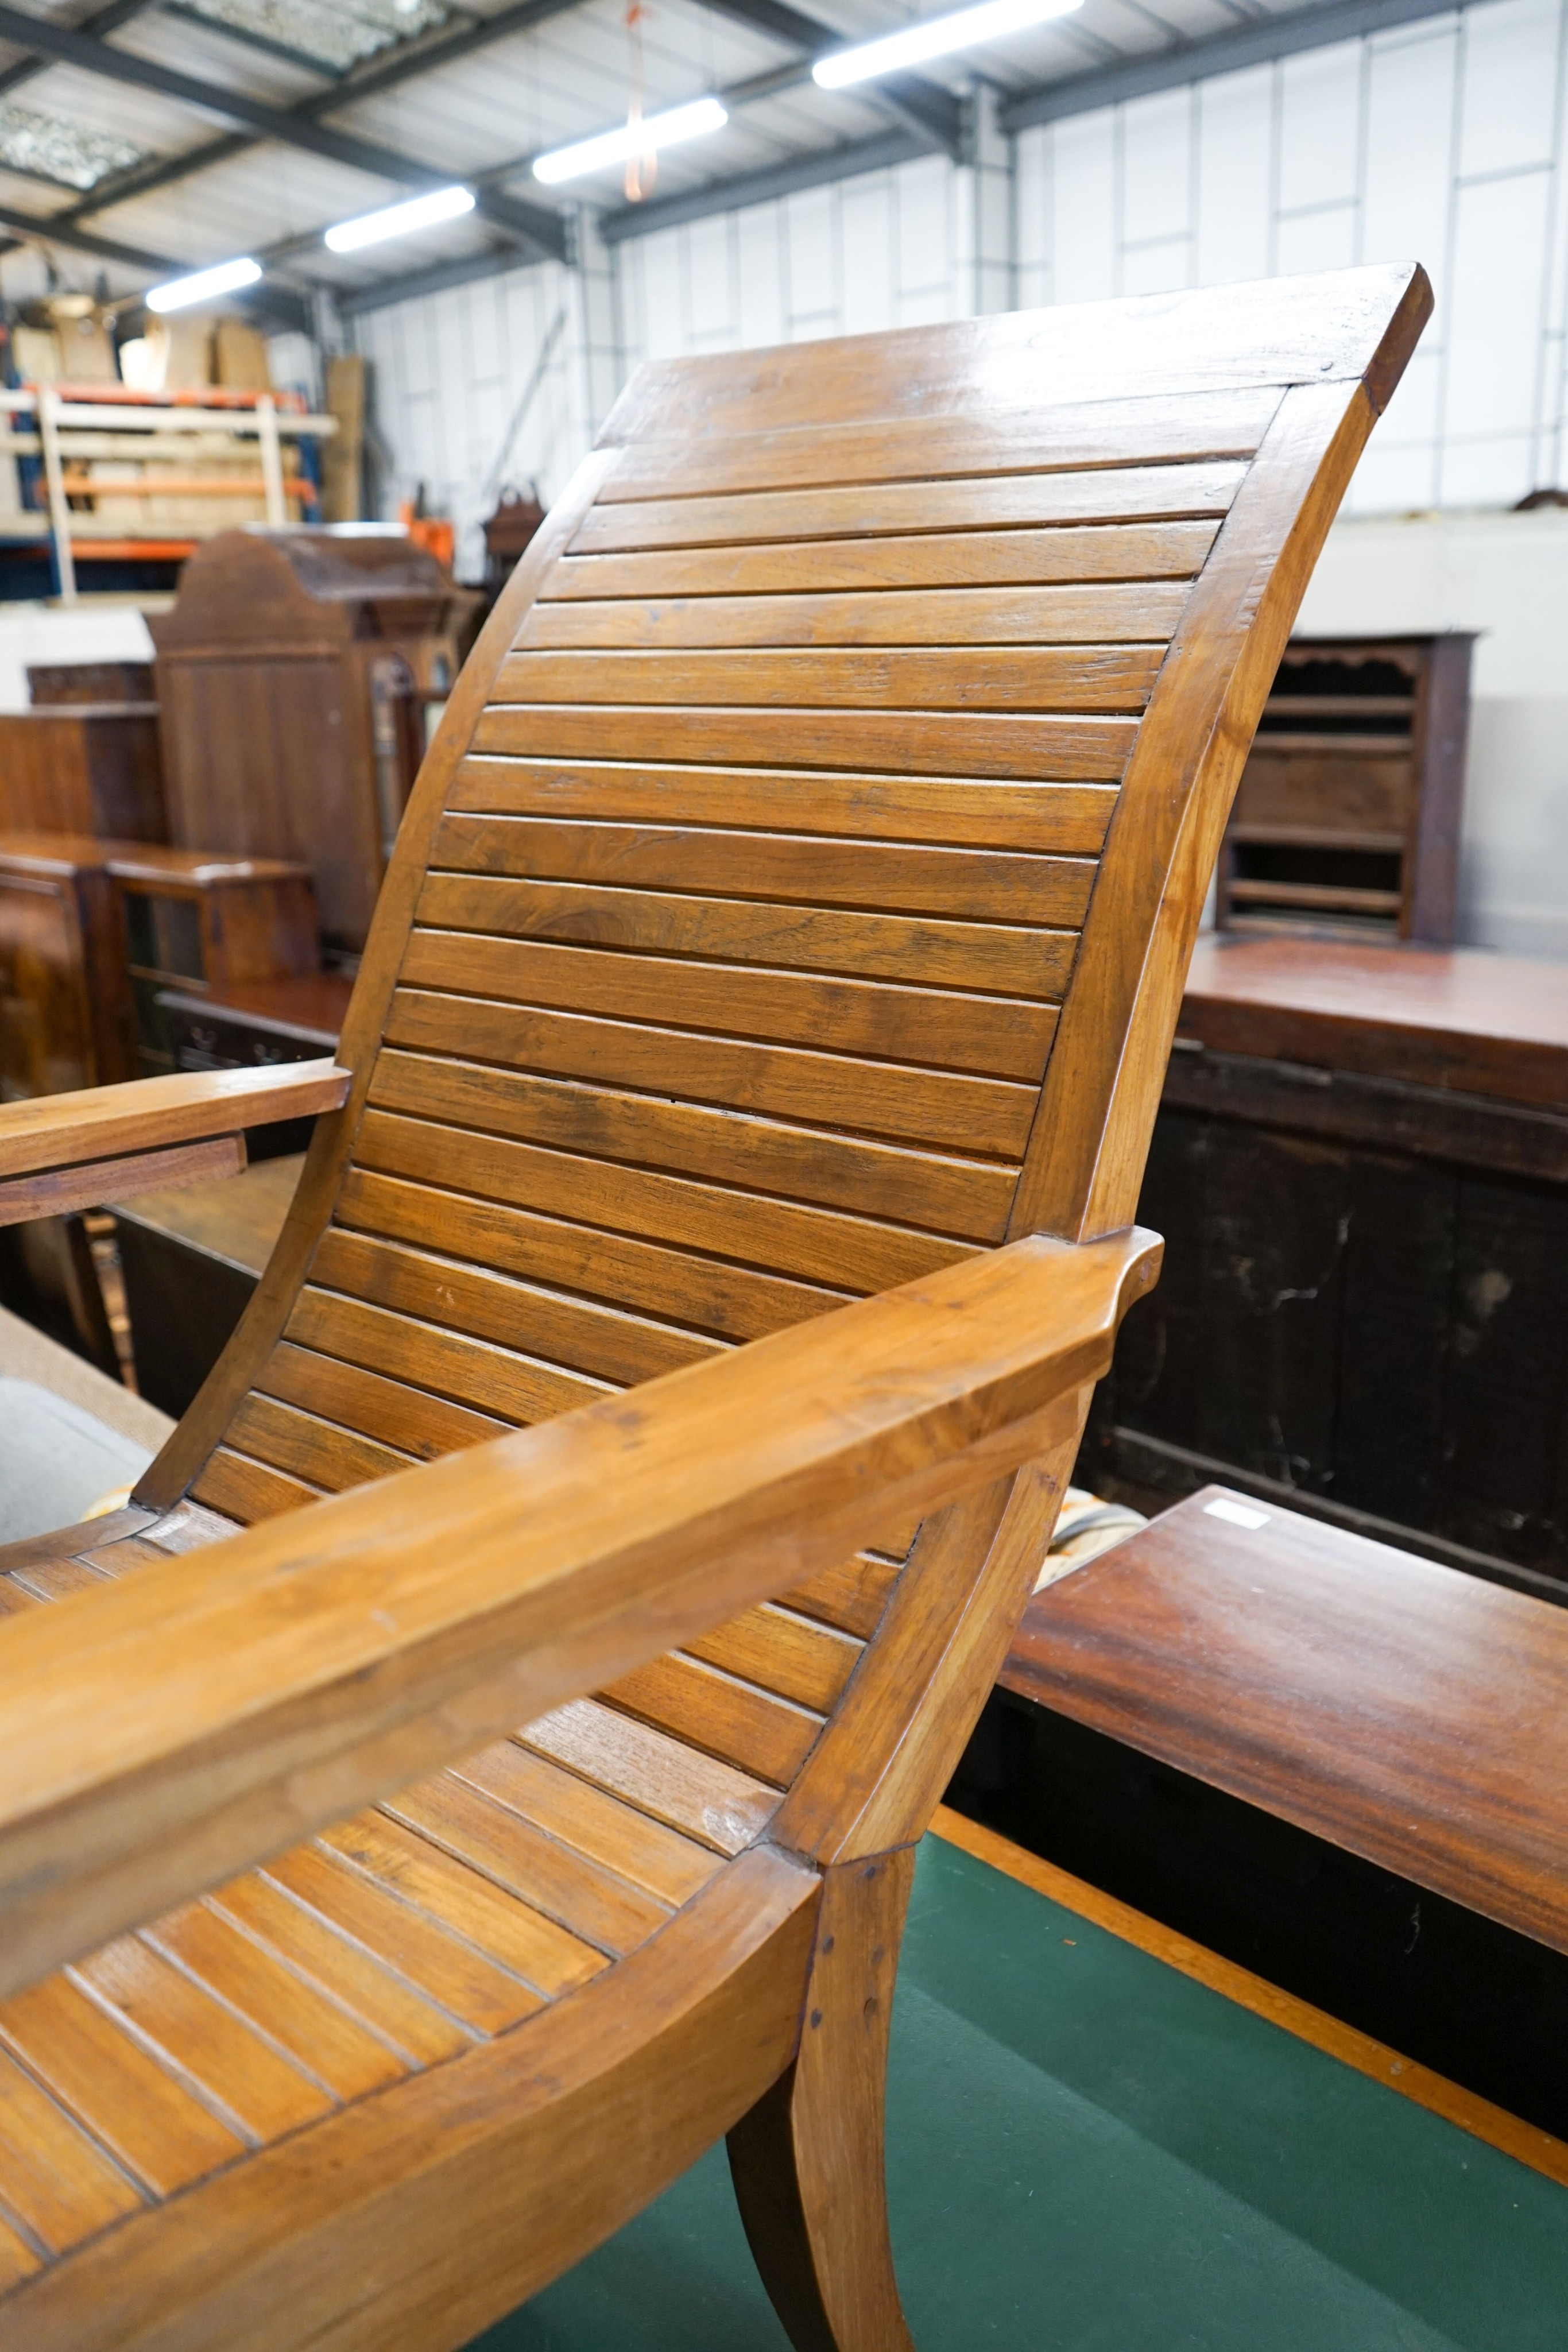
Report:
[[1225,830],[1220,929],[1450,946],[1474,637],[1293,637]]

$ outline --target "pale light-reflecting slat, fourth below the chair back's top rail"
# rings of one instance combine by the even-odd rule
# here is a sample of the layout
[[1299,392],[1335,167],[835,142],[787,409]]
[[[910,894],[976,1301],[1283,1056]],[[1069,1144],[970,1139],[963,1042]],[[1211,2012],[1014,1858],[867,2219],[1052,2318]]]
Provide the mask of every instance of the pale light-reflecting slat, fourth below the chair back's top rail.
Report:
[[611,597],[534,604],[527,652],[710,644],[1140,644],[1182,616],[1180,581],[886,588],[860,595]]

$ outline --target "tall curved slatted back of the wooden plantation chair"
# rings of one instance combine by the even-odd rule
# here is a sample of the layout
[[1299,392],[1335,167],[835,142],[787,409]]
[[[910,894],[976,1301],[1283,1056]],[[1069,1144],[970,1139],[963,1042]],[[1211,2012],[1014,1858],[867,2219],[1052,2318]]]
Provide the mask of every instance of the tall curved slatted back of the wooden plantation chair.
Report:
[[[646,367],[454,694],[355,1096],[141,1498],[252,1522],[1131,1223],[1229,795],[1425,303],[1382,268]],[[790,1785],[910,1536],[816,1635],[759,1613],[616,1698]]]

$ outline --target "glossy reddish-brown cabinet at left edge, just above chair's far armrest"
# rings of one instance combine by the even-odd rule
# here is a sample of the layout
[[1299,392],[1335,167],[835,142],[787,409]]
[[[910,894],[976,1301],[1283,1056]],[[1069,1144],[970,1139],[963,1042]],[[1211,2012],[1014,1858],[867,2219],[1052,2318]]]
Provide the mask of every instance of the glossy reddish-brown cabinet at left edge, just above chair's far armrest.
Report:
[[134,1075],[125,920],[103,842],[0,840],[0,1096]]

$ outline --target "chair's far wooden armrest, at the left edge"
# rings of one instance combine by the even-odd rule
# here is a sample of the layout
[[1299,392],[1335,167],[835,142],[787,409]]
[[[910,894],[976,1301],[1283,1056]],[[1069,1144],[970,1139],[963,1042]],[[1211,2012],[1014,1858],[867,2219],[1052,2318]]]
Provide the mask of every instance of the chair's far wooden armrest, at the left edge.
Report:
[[0,1225],[202,1176],[233,1176],[244,1167],[244,1127],[336,1110],[350,1084],[350,1073],[324,1058],[263,1070],[179,1070],[7,1103],[0,1108]]

